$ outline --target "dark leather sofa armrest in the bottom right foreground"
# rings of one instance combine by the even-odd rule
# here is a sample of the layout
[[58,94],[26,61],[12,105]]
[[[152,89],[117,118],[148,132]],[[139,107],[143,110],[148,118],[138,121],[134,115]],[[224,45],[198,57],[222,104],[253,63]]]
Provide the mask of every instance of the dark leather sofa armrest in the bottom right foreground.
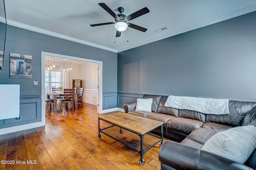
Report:
[[[189,147],[174,141],[164,141],[159,151],[162,167],[191,170],[250,170],[251,168],[212,154],[205,150]],[[165,165],[163,165],[165,164]],[[169,168],[168,168],[169,169]]]

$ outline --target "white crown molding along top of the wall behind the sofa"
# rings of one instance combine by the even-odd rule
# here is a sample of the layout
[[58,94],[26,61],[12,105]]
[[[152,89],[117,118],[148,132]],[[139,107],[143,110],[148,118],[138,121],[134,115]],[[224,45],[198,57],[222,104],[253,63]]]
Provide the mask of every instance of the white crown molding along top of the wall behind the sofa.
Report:
[[185,28],[182,28],[182,29],[178,29],[176,31],[173,31],[173,32],[170,32],[170,33],[167,33],[167,34],[164,34],[164,35],[161,35],[159,37],[156,37],[156,38],[152,38],[152,39],[149,39],[147,41],[142,41],[140,43],[136,43],[134,45],[130,45],[128,47],[125,47],[125,48],[122,48],[122,49],[118,49],[117,50],[117,53],[120,53],[122,51],[126,51],[126,50],[129,50],[129,49],[133,49],[135,47],[139,47],[141,45],[145,45],[145,44],[148,44],[148,43],[152,43],[152,42],[155,42],[155,41],[159,41],[161,39],[165,39],[165,38],[168,38],[168,37],[172,37],[174,35],[178,35],[178,34],[181,34],[181,33],[185,33],[185,32],[188,32],[188,31],[192,31],[194,29],[198,29],[198,28],[201,28],[201,27],[205,27],[205,26],[208,26],[208,25],[212,25],[214,23],[218,23],[218,22],[221,22],[221,21],[224,21],[224,20],[228,20],[228,19],[231,19],[231,18],[234,18],[234,17],[237,17],[237,16],[241,16],[241,15],[244,15],[244,14],[248,14],[250,12],[254,12],[256,11],[256,5],[253,5],[253,6],[249,6],[247,8],[243,8],[241,10],[237,10],[235,12],[231,12],[231,13],[228,13],[228,14],[225,14],[225,15],[222,15],[222,16],[219,16],[219,17],[216,17],[216,18],[213,18],[211,20],[206,20],[206,21],[203,21],[201,23],[197,23],[195,25],[191,25],[189,27],[185,27]]

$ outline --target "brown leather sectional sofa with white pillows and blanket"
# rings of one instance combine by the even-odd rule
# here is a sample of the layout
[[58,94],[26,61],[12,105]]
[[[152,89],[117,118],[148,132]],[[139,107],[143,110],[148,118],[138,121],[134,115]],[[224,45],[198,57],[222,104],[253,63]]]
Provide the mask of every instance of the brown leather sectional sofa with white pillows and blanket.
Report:
[[[229,101],[230,114],[209,115],[191,110],[165,107],[164,104],[168,96],[145,94],[143,98],[153,99],[152,113],[135,111],[136,102],[124,104],[124,111],[162,121],[164,123],[164,136],[177,141],[165,141],[162,144],[159,152],[162,170],[255,169],[256,149],[245,164],[240,164],[201,150],[201,148],[214,134],[241,126],[246,113],[256,106],[256,102]],[[246,117],[246,121],[256,122],[256,114]],[[156,133],[160,133],[160,129],[156,129]]]

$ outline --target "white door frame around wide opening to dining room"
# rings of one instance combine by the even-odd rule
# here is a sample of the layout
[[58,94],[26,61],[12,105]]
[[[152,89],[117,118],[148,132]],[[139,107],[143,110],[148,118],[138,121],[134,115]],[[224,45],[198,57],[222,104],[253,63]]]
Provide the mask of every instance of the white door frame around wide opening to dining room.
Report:
[[41,106],[42,106],[42,125],[45,125],[45,56],[52,56],[52,57],[58,57],[58,58],[64,58],[64,59],[73,59],[78,61],[85,61],[89,63],[97,63],[99,65],[99,78],[98,78],[98,104],[99,104],[99,110],[98,113],[102,113],[102,61],[97,60],[91,60],[91,59],[84,59],[80,57],[74,57],[74,56],[68,56],[68,55],[61,55],[61,54],[55,54],[55,53],[48,53],[41,51]]

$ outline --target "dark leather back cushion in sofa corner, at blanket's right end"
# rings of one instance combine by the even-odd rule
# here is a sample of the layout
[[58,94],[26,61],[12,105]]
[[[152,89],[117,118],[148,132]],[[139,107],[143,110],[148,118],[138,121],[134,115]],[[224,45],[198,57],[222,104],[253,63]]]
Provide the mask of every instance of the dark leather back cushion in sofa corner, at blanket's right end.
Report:
[[248,111],[256,106],[256,102],[229,101],[228,115],[206,115],[205,122],[220,123],[232,127],[240,126]]

